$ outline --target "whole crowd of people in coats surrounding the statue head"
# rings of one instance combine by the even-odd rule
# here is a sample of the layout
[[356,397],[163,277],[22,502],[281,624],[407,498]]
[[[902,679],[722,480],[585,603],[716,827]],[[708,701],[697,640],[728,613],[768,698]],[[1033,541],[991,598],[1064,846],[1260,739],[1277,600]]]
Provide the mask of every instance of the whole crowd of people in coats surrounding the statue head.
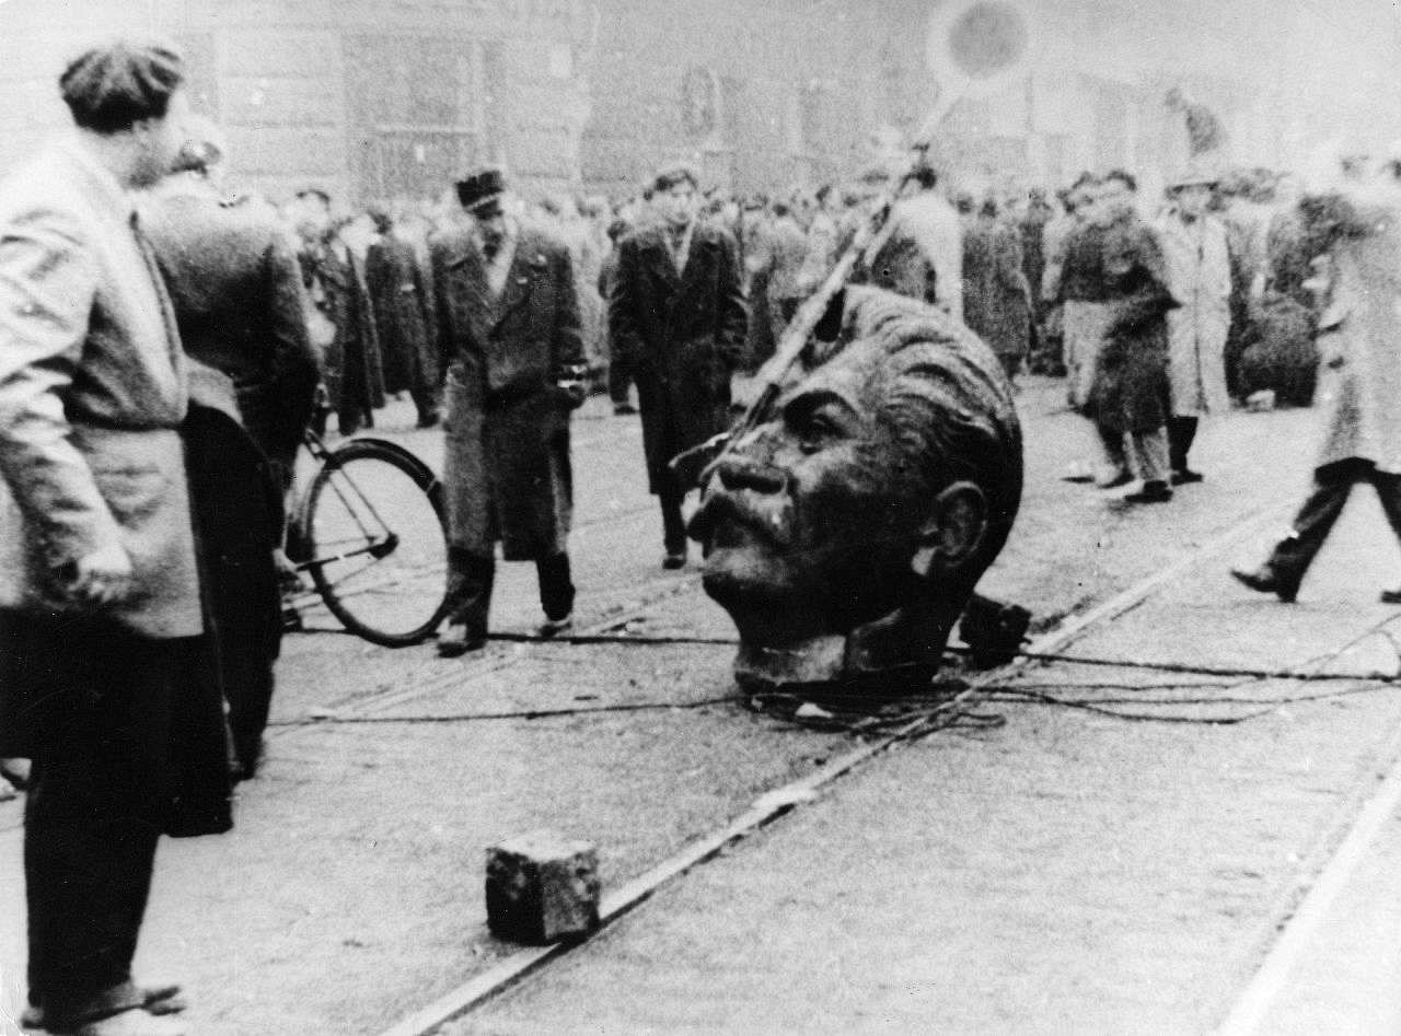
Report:
[[[569,423],[591,389],[640,412],[661,563],[686,564],[691,486],[668,462],[730,426],[734,375],[853,241],[850,280],[883,290],[871,311],[904,295],[916,322],[933,307],[967,325],[1009,382],[1063,377],[1103,445],[1070,477],[1133,483],[1131,503],[1201,480],[1202,416],[1261,392],[1307,402],[1316,339],[1359,335],[1349,314],[1395,321],[1372,312],[1394,293],[1367,291],[1401,253],[1374,232],[1387,220],[1299,204],[1261,169],[1194,168],[1140,199],[1125,171],[1052,196],[873,165],[737,197],[674,164],[628,199],[527,203],[483,167],[433,203],[350,213],[319,188],[231,197],[224,141],[182,87],[165,48],[87,52],[60,80],[71,137],[0,193],[0,756],[32,760],[27,1025],[55,1033],[184,1032],[177,991],[130,976],[154,848],[227,830],[231,781],[258,767],[283,496],[318,416],[353,434],[406,393],[419,427],[446,427],[439,651],[458,657],[486,643],[499,550],[537,566],[539,636],[570,629]],[[1366,183],[1391,192],[1386,213],[1398,169]],[[1401,532],[1401,449],[1374,396],[1346,396],[1352,438],[1247,585],[1292,599],[1356,480]]]

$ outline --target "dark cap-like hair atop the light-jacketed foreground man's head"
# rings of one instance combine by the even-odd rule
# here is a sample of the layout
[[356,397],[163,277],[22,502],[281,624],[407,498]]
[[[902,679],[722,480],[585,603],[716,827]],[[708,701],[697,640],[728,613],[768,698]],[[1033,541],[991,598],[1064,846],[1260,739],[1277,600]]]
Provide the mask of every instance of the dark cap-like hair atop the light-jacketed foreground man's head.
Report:
[[94,133],[130,130],[146,119],[164,119],[171,95],[185,83],[174,50],[157,43],[119,41],[78,56],[59,77],[73,122]]

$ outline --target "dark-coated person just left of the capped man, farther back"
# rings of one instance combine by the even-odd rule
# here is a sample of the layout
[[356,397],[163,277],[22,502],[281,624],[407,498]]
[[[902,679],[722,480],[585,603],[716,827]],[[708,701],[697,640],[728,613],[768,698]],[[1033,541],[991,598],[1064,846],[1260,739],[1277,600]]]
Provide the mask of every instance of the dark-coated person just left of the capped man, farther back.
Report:
[[398,235],[394,218],[382,209],[370,211],[378,238],[364,258],[374,325],[384,358],[384,391],[408,391],[417,409],[419,427],[439,421],[437,343],[433,340],[433,301],[417,249]]

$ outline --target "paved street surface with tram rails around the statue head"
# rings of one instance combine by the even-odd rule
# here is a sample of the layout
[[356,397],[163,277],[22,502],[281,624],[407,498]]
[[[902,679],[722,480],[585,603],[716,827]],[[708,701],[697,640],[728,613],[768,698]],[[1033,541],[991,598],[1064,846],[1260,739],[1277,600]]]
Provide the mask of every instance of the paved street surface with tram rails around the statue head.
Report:
[[[1045,630],[1182,563],[1068,650],[1121,665],[1000,680],[976,711],[1005,725],[877,757],[443,1033],[1177,1033],[1227,1016],[1395,760],[1401,699],[1142,664],[1394,672],[1384,624],[1401,613],[1376,601],[1401,552],[1359,491],[1297,605],[1251,595],[1226,567],[1288,521],[1316,416],[1208,423],[1208,480],[1133,510],[1059,479],[1091,447],[1059,392],[1031,379],[1020,396],[1027,496],[985,589]],[[733,636],[693,568],[660,570],[636,419],[591,400],[574,427],[580,626]],[[439,435],[391,435],[439,462]],[[534,570],[500,575],[495,629],[525,633]],[[726,644],[493,641],[447,662],[325,613],[308,624],[235,832],[161,848],[139,965],[185,981],[202,1036],[381,1032],[514,949],[485,930],[488,846],[542,826],[586,837],[616,888],[855,746],[736,703]],[[10,1007],[18,825],[20,805],[0,806]],[[1262,1032],[1401,1028],[1397,997],[1374,993],[1401,988],[1401,818],[1363,848]]]

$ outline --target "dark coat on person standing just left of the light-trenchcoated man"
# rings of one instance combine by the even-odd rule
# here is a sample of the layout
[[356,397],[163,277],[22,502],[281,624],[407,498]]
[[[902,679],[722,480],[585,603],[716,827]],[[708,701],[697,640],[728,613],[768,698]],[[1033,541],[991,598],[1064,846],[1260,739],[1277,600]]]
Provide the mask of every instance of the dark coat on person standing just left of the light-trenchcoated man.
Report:
[[1108,323],[1091,389],[1093,413],[1107,428],[1146,433],[1171,414],[1167,314],[1177,308],[1153,228],[1125,216],[1104,232]]

